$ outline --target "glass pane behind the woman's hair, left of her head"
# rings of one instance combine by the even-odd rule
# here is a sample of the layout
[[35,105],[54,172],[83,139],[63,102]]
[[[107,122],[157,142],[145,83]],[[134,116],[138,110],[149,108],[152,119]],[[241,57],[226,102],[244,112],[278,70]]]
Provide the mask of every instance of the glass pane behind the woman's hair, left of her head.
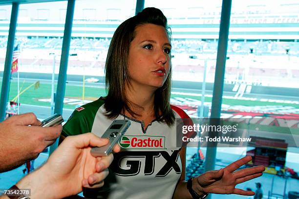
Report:
[[[92,6],[90,6],[92,5]],[[64,110],[106,95],[104,67],[114,31],[135,14],[136,0],[76,0]]]

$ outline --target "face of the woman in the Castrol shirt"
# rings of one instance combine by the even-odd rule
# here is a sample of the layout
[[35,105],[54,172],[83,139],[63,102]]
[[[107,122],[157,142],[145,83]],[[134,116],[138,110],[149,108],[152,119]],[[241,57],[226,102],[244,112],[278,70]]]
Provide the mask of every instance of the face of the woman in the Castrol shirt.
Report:
[[150,23],[137,26],[128,58],[132,86],[156,89],[163,86],[170,71],[170,53],[170,39],[163,26]]

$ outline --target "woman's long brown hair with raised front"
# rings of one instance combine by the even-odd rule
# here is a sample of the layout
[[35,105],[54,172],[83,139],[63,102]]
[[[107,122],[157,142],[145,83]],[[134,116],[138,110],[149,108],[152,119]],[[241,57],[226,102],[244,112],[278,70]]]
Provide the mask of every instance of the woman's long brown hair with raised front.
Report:
[[[115,119],[127,110],[132,116],[139,116],[129,107],[129,102],[125,93],[125,82],[128,84],[128,55],[131,41],[135,38],[135,28],[142,24],[161,25],[165,28],[171,39],[171,30],[167,25],[167,19],[161,10],[157,8],[145,8],[136,16],[125,20],[118,26],[112,37],[107,60],[105,65],[107,96],[105,100],[106,116]],[[171,63],[170,63],[171,66]],[[171,97],[171,69],[164,85],[155,91],[154,113],[156,120],[173,124],[174,114],[170,107]],[[162,115],[160,115],[160,111]]]

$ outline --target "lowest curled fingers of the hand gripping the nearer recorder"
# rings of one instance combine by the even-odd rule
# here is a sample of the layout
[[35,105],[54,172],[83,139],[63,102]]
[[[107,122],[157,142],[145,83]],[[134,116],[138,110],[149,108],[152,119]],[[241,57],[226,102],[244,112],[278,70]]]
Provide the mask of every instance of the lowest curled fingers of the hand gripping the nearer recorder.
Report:
[[105,169],[100,173],[94,173],[82,180],[82,186],[86,188],[98,188],[104,185],[104,179],[108,176],[109,171]]

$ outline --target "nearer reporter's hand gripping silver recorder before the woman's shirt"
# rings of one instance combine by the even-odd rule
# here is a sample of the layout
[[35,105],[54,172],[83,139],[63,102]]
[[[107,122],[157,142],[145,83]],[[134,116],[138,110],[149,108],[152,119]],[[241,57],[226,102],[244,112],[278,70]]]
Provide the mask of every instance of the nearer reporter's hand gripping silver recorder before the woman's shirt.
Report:
[[[83,187],[101,187],[113,155],[95,158],[90,150],[107,143],[108,139],[92,133],[68,136],[40,169],[22,179],[17,186],[31,188],[32,199],[60,199],[82,192]],[[119,151],[120,147],[116,145],[114,152]]]

